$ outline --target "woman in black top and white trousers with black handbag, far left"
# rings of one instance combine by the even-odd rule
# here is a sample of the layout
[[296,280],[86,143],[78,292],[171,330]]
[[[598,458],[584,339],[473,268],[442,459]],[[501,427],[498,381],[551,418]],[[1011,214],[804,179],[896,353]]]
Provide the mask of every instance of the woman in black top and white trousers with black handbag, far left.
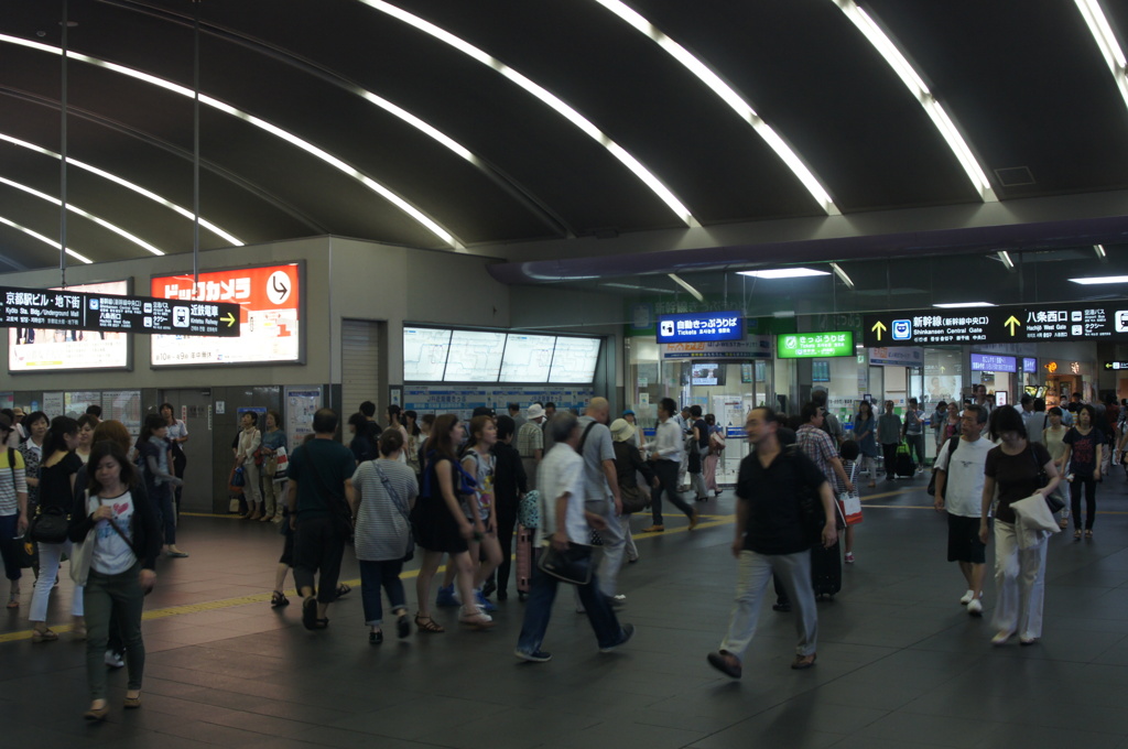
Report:
[[[37,512],[59,512],[63,517],[74,503],[74,478],[82,461],[74,455],[78,446],[78,422],[67,416],[55,416],[51,422],[46,439],[43,441],[43,462],[39,464],[39,504]],[[39,550],[39,578],[35,581],[32,593],[32,611],[28,620],[32,623],[32,642],[53,642],[59,640],[47,626],[47,601],[51,588],[59,576],[59,563],[62,555],[70,556],[71,543],[63,539],[59,543],[37,543]],[[74,624],[71,633],[77,640],[86,636],[86,624],[82,620],[82,587],[74,585],[71,598],[71,616]]]

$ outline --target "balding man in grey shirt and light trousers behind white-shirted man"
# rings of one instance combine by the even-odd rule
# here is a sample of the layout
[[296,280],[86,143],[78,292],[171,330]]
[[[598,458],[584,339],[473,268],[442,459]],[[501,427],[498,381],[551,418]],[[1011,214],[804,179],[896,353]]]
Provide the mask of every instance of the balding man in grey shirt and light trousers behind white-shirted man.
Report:
[[576,451],[583,458],[584,502],[588,512],[607,520],[607,529],[600,530],[603,540],[603,558],[599,565],[599,591],[613,603],[622,603],[624,596],[616,596],[616,582],[626,537],[619,523],[623,501],[619,499],[618,475],[615,473],[615,447],[611,430],[607,428],[611,405],[607,398],[592,398],[583,416],[580,416],[580,447]]

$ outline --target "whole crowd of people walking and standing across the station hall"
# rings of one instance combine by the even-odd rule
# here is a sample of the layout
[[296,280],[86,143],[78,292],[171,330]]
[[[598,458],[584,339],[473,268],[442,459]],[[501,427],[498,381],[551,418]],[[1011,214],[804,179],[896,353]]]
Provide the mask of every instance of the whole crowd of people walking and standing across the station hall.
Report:
[[[984,611],[986,549],[994,537],[998,601],[992,642],[997,645],[1015,636],[1024,645],[1041,637],[1047,538],[1069,518],[1076,540],[1093,538],[1095,483],[1102,470],[1107,474],[1112,452],[1119,461],[1126,439],[1125,421],[1112,404],[1101,414],[1082,403],[1048,412],[1038,399],[1024,398],[1021,405],[1021,411],[992,408],[977,394],[954,414],[949,404],[937,404],[931,420],[937,446],[934,506],[948,516],[948,558],[959,564],[966,584],[959,602],[972,616]],[[902,442],[914,446],[915,465],[924,468],[927,422],[915,399],[908,406],[902,421],[892,402],[880,417],[869,403],[860,404],[852,435],[827,409],[825,393],[794,417],[766,407],[749,413],[750,450],[735,487],[735,600],[710,664],[741,676],[741,659],[774,581],[773,608],[794,613],[799,642],[792,668],[814,666],[816,597],[832,596],[840,587],[840,570],[835,572],[839,539],[841,558],[855,563],[861,510],[851,501],[857,497],[861,472],[869,473],[873,486],[879,442],[887,475],[892,470],[889,446],[898,449]],[[514,654],[548,661],[545,637],[562,581],[574,585],[576,610],[588,616],[600,651],[629,641],[634,627],[618,618],[626,597],[617,588],[622,566],[640,558],[629,519],[649,509],[644,532],[662,532],[666,499],[686,516],[689,530],[696,528],[697,510],[682,495],[691,492],[704,501],[720,493],[716,465],[725,439],[715,417],[663,398],[654,437],[645,440],[633,412],[613,420],[600,397],[582,414],[557,412],[552,403],[525,409],[513,404],[503,415],[479,411],[464,423],[455,414],[420,418],[391,406],[388,426],[381,428],[374,405],[365,402],[347,420],[345,446],[336,439],[338,415],[321,408],[314,415],[314,433],[291,451],[276,412],[267,412],[265,432],[255,413],[243,414],[232,450],[246,476],[244,516],[282,523],[284,537],[271,605],[289,603],[283,588],[292,571],[303,626],[326,629],[331,606],[349,592],[338,579],[352,544],[372,645],[385,638],[385,597],[399,638],[409,636],[413,624],[420,635],[444,632],[432,605],[458,607],[461,626],[490,629],[496,607],[491,597],[506,600],[515,582],[526,608]],[[0,413],[0,440],[16,444],[0,452],[8,606],[19,606],[14,539],[26,532],[38,552],[32,640],[58,640],[47,626],[47,601],[60,562],[71,559],[71,633],[87,642],[91,703],[85,715],[90,721],[108,713],[107,666],[127,667],[124,705],[141,704],[143,597],[162,552],[187,556],[176,545],[184,460],[175,448],[186,439],[169,404],[144,420],[135,442],[123,424],[102,421],[96,411],[50,421],[43,412]],[[1068,502],[1061,501],[1065,486]],[[1038,499],[1033,511],[1030,497]],[[61,535],[52,531],[50,518],[68,516]],[[522,543],[528,544],[523,555]],[[597,545],[600,554],[593,552]],[[412,616],[400,576],[416,554]],[[444,557],[446,576],[434,585]]]

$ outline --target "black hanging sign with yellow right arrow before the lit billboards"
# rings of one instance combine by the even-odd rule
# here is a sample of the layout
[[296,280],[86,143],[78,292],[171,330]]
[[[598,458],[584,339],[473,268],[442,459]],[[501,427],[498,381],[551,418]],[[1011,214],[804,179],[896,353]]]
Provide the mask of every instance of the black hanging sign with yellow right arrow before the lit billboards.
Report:
[[0,287],[0,325],[102,333],[238,336],[239,306]]

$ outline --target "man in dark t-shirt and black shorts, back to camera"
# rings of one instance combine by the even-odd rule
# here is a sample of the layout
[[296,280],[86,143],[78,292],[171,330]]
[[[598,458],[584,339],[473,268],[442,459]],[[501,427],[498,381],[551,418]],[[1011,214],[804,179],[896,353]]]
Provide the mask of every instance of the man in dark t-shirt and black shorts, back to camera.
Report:
[[[337,414],[314,414],[314,438],[290,456],[290,528],[293,530],[293,579],[302,597],[301,623],[307,629],[329,625],[326,613],[337,597],[341,557],[352,532],[355,503],[352,450],[334,440]],[[314,575],[320,571],[319,584]],[[316,594],[316,598],[315,598]]]

